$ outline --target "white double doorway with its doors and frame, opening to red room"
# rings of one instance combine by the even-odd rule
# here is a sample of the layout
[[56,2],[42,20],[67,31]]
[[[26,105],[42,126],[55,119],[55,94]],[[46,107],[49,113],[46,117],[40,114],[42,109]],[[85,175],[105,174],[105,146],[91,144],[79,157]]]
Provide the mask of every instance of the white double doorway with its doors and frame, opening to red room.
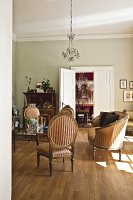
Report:
[[[88,76],[88,80],[86,77]],[[77,103],[76,81],[85,78],[88,81],[89,97],[83,94],[83,99]],[[76,80],[77,78],[77,80]],[[89,80],[90,79],[90,80]],[[85,82],[83,81],[83,82]],[[80,86],[81,87],[81,86]],[[83,85],[84,90],[86,85]],[[90,91],[91,88],[91,91]],[[70,105],[75,111],[78,104],[82,102],[91,108],[93,117],[99,115],[101,111],[114,110],[114,67],[113,66],[95,66],[95,67],[71,67],[71,69],[60,69],[60,97],[59,108]]]

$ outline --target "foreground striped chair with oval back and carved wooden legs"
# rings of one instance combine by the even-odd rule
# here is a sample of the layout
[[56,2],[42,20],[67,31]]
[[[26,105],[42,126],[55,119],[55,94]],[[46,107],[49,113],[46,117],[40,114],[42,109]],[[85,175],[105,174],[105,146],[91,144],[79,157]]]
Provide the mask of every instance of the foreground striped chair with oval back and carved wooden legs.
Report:
[[[49,142],[39,143],[37,137],[37,166],[39,167],[40,156],[49,159],[50,176],[52,176],[52,163],[54,158],[71,158],[71,171],[73,171],[74,143],[77,136],[78,126],[75,119],[64,113],[54,116],[48,126]],[[38,135],[37,135],[38,136]]]

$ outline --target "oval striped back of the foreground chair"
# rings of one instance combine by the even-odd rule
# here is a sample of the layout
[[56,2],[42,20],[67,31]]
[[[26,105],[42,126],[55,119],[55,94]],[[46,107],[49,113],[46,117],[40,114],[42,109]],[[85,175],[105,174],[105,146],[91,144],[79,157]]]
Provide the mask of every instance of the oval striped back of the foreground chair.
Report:
[[51,146],[63,148],[75,142],[78,126],[70,115],[56,115],[49,123],[48,138]]

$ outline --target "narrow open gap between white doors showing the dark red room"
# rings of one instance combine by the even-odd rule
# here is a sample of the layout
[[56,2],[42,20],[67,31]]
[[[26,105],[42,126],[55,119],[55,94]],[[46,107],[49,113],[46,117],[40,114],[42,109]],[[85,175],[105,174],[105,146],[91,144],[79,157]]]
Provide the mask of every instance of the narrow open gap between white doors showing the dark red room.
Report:
[[87,125],[94,113],[94,72],[76,72],[76,120],[79,125]]

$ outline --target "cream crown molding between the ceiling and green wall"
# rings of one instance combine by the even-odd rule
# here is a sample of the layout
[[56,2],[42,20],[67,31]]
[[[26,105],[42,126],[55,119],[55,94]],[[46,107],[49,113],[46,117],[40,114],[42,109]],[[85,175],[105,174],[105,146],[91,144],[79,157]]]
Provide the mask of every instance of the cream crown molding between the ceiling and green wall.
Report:
[[[95,39],[120,39],[133,38],[133,33],[130,34],[99,34],[99,35],[77,35],[75,40],[95,40]],[[48,35],[15,35],[13,40],[16,42],[33,42],[33,41],[60,41],[68,40],[66,36],[48,36]]]

